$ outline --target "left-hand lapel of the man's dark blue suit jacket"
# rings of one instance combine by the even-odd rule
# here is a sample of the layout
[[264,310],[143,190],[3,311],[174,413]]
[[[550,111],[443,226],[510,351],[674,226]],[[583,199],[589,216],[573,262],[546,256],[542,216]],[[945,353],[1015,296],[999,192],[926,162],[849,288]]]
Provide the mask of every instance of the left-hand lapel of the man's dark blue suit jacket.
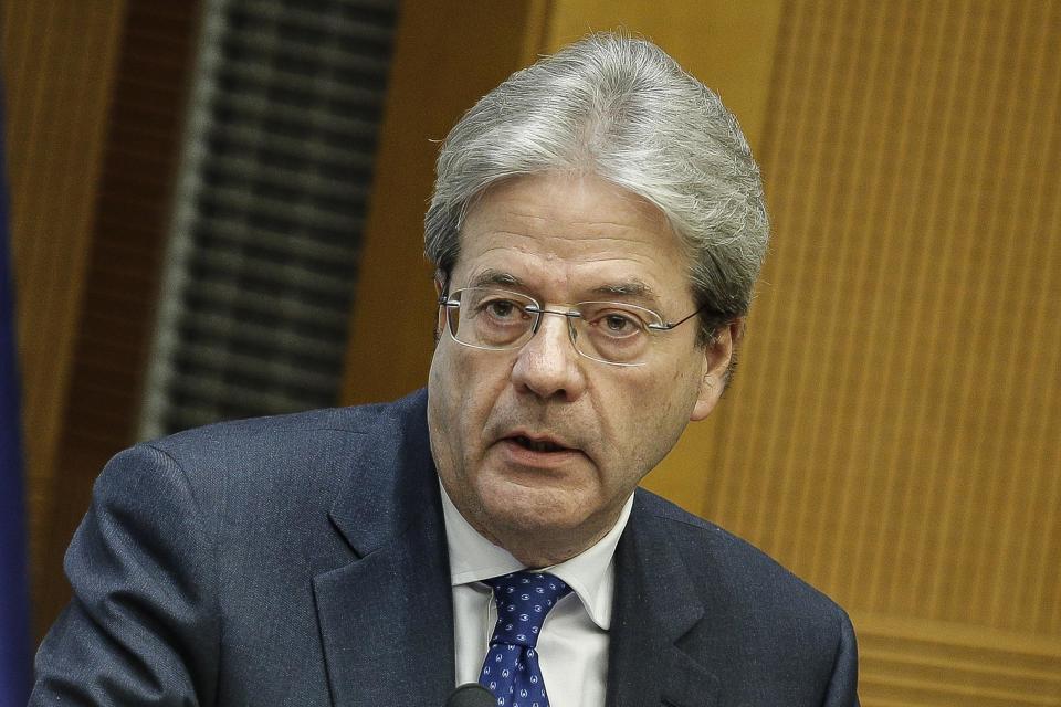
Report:
[[332,521],[360,559],[314,578],[333,703],[441,705],[453,688],[445,526],[421,393],[350,460]]

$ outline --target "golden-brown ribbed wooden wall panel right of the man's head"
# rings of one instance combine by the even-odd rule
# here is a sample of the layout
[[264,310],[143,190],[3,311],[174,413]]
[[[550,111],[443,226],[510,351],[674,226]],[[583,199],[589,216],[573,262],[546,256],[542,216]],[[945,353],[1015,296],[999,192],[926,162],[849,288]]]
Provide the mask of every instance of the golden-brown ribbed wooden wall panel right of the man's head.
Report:
[[703,510],[854,609],[1061,634],[1059,11],[786,11]]

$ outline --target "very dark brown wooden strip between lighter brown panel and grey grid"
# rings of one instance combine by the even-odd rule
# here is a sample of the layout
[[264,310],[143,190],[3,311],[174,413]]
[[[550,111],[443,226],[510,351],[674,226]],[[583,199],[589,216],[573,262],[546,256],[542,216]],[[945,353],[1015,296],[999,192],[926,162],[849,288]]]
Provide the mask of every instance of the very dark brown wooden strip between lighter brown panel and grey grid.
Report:
[[193,0],[137,0],[123,20],[63,424],[38,521],[38,635],[70,599],[62,557],[96,475],[136,440],[198,28]]

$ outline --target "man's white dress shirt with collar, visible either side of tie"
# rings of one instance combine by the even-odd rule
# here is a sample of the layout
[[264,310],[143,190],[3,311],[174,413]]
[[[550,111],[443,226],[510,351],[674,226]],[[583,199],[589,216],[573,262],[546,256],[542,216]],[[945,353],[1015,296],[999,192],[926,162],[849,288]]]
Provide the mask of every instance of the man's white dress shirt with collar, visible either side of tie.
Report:
[[[631,495],[614,527],[596,545],[565,562],[542,568],[572,590],[546,616],[538,636],[538,663],[550,707],[603,707],[616,579],[613,558],[632,506]],[[477,683],[497,621],[493,591],[482,580],[526,566],[469,525],[444,488],[442,510],[453,585],[456,684]]]

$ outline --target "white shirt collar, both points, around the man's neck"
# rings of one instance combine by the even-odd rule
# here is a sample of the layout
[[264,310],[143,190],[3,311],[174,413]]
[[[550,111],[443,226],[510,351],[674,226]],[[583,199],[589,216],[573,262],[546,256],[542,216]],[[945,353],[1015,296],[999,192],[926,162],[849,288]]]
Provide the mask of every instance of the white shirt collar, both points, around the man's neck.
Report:
[[[453,587],[471,584],[484,579],[526,569],[519,560],[473,528],[450,500],[442,483],[442,513],[445,518],[445,540],[450,550],[450,582]],[[616,525],[605,537],[579,555],[559,564],[544,568],[556,574],[578,595],[593,623],[607,631],[611,625],[611,602],[614,594],[613,558],[619,536],[622,535],[633,494],[623,504]]]

